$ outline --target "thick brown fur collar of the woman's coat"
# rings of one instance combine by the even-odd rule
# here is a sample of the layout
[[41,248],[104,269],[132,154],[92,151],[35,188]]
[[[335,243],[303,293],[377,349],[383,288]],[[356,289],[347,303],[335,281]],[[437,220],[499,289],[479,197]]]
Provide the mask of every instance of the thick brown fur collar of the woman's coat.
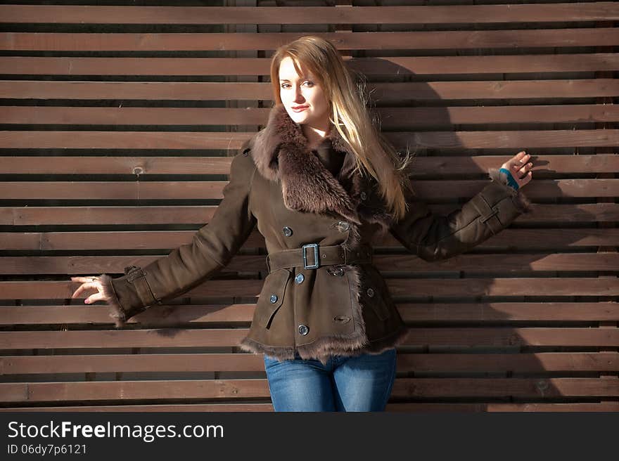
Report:
[[383,228],[389,226],[391,216],[376,193],[376,180],[354,171],[355,152],[336,129],[332,128],[317,148],[324,149],[323,155],[345,155],[336,176],[309,150],[300,124],[281,104],[272,108],[267,125],[253,137],[250,147],[260,174],[281,183],[288,209],[336,214],[356,224],[364,219],[381,223]]

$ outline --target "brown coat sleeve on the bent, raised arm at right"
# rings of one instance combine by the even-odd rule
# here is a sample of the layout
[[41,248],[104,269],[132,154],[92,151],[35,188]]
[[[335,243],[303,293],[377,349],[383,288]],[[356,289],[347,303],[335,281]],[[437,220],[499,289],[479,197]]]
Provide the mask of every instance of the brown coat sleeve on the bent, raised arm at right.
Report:
[[506,175],[498,169],[488,173],[492,181],[447,216],[433,214],[426,203],[409,195],[409,211],[393,223],[390,233],[421,259],[437,261],[466,252],[502,231],[520,214],[531,212],[522,189],[508,186]]

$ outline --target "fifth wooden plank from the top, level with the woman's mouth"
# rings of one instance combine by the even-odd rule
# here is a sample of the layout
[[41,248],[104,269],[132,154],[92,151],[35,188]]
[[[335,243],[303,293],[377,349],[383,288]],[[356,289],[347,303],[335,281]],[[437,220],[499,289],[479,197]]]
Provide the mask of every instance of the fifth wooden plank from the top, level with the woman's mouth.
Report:
[[[618,28],[619,30],[619,28]],[[0,124],[62,125],[264,125],[270,109],[76,108],[4,106]],[[454,124],[553,124],[618,122],[619,108],[606,104],[518,105],[440,108],[378,108],[382,129],[433,129]]]

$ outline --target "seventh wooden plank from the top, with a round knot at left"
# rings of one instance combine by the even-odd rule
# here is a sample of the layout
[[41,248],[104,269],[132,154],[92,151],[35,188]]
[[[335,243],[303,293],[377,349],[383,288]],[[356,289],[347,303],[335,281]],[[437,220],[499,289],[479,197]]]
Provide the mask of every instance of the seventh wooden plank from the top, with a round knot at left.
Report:
[[[0,115],[1,117],[1,115]],[[430,175],[473,175],[497,168],[511,155],[416,157],[411,178]],[[229,174],[232,157],[0,157],[1,174]],[[537,174],[614,173],[619,171],[619,155],[533,155],[532,162],[544,165]],[[51,176],[50,176],[51,178]]]

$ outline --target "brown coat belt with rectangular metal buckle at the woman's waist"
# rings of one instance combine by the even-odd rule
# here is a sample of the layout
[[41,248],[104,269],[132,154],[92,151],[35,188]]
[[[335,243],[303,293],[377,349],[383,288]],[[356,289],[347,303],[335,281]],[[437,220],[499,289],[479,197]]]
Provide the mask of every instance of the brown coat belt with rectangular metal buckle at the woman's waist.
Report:
[[359,245],[347,251],[342,245],[321,246],[308,243],[301,248],[283,249],[267,256],[269,273],[281,268],[302,267],[305,269],[331,266],[333,264],[371,263],[373,249],[370,245]]

